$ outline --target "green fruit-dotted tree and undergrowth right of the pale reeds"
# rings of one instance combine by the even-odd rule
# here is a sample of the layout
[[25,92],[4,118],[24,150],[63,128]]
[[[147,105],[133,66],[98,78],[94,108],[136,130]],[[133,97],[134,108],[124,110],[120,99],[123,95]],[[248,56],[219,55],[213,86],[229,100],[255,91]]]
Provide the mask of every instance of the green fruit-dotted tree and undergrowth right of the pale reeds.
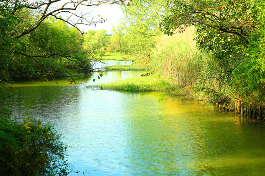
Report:
[[251,103],[264,103],[263,1],[168,0],[170,8],[160,28],[165,34],[183,33],[196,26],[198,47],[211,53],[203,80]]

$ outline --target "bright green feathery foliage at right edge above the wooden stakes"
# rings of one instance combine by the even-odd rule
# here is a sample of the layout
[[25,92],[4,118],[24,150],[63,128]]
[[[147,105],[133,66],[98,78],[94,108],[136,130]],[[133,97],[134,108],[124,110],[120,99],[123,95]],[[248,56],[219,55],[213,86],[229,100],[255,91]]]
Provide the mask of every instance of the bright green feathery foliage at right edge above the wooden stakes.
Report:
[[242,63],[233,72],[235,89],[249,104],[265,103],[265,2],[256,2],[254,11],[259,19],[259,28],[252,32],[247,40],[248,47],[243,52]]

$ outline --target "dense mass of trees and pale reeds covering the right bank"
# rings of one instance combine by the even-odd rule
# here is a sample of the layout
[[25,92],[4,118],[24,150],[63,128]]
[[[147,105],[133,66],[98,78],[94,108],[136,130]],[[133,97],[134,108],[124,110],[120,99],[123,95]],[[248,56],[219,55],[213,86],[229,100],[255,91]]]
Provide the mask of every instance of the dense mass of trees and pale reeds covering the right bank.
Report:
[[236,97],[264,105],[265,2],[134,0],[131,6],[126,7],[130,21],[148,22],[150,30],[172,36],[159,37],[151,54],[153,68],[164,78],[214,102],[231,103]]

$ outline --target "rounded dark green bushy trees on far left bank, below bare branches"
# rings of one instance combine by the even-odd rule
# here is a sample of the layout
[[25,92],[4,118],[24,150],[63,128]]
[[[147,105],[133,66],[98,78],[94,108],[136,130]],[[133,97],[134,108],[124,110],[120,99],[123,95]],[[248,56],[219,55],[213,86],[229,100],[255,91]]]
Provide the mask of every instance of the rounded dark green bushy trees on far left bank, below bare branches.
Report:
[[87,52],[82,48],[83,37],[64,22],[47,20],[29,35],[16,39],[12,50],[4,49],[1,79],[42,78],[91,71]]

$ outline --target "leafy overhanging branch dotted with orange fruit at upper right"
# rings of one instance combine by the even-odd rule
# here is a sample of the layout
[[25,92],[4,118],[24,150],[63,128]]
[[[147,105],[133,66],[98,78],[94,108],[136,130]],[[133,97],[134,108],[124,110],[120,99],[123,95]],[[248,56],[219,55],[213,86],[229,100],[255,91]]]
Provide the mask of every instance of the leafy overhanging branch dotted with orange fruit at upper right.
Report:
[[191,25],[203,25],[244,39],[258,23],[251,0],[168,0],[168,3],[171,4],[168,15],[160,23],[168,35],[175,30],[183,32]]

